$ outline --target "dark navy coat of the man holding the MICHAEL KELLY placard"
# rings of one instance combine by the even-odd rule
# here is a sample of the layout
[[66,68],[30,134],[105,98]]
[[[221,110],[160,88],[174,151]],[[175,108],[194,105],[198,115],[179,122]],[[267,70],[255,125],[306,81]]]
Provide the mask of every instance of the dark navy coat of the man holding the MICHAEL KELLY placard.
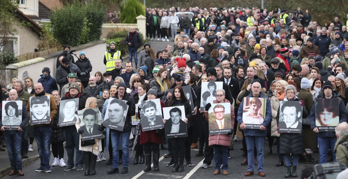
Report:
[[[325,99],[325,94],[323,93],[321,98]],[[347,117],[348,117],[348,113],[347,113],[347,109],[346,109],[346,105],[343,103],[343,100],[341,98],[339,98],[335,92],[332,92],[332,97],[331,98],[338,98],[338,108],[339,108],[339,123],[341,122],[347,122]],[[317,127],[317,125],[315,124],[315,103],[310,111],[310,129],[314,129]],[[335,131],[327,131],[327,132],[318,132],[317,133],[318,137],[335,137]]]

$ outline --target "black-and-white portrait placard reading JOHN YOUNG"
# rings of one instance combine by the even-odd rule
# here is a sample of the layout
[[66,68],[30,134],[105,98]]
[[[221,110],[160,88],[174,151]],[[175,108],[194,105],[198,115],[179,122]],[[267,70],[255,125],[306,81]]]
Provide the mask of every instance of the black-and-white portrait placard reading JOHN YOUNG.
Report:
[[2,125],[5,130],[18,130],[22,123],[23,101],[2,101]]

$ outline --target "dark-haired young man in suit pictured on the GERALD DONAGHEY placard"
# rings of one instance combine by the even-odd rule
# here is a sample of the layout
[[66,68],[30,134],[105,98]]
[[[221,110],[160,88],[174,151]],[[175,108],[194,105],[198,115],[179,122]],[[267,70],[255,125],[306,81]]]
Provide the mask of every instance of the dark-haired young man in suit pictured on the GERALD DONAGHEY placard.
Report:
[[83,130],[82,137],[100,135],[101,131],[98,127],[101,125],[97,124],[97,113],[93,109],[86,109],[83,113],[82,121],[85,125],[81,126],[80,130]]

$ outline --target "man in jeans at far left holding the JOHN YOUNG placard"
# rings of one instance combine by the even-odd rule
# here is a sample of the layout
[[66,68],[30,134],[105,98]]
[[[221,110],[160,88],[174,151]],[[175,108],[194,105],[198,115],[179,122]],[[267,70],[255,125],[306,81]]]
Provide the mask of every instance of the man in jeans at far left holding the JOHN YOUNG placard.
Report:
[[[22,101],[18,100],[17,91],[15,89],[11,89],[9,92],[9,99],[10,101],[3,101],[2,105],[6,111],[6,116],[8,119],[14,117],[14,119],[18,119],[14,122],[13,120],[8,121],[9,123],[13,123],[14,125],[17,125],[16,130],[7,130],[8,126],[5,126],[4,119],[2,117],[2,120],[0,121],[0,130],[4,131],[4,138],[6,140],[6,147],[8,150],[8,156],[10,158],[11,162],[11,169],[12,171],[9,173],[9,175],[15,175],[18,172],[19,176],[24,176],[24,173],[22,172],[22,133],[24,126],[28,123],[28,113],[22,110],[22,114],[18,114],[18,106],[19,104],[22,105],[22,109],[25,109],[25,106],[22,104]],[[6,103],[7,102],[7,103]],[[19,102],[17,104],[17,102]],[[10,114],[13,113],[13,114]],[[0,111],[0,115],[2,116],[3,112]],[[17,116],[17,117],[16,117]],[[19,117],[22,116],[22,117]],[[5,131],[6,130],[6,131]]]

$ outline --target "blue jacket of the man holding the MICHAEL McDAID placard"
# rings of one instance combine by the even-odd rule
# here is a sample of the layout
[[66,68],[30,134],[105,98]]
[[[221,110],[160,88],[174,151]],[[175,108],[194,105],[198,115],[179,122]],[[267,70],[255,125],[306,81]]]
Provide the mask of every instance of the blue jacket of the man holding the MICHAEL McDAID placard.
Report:
[[[253,97],[253,94],[251,93],[248,97]],[[262,125],[267,128],[267,126],[271,123],[272,120],[272,112],[271,112],[271,102],[268,99],[267,96],[264,96],[261,92],[258,98],[266,98],[266,116],[264,118],[264,121],[262,122]],[[241,104],[244,104],[244,99],[242,100]],[[243,105],[239,105],[238,108],[238,115],[237,120],[240,125],[240,123],[243,122]],[[260,130],[260,129],[244,129],[244,136],[260,136],[260,137],[266,137],[267,130]]]

